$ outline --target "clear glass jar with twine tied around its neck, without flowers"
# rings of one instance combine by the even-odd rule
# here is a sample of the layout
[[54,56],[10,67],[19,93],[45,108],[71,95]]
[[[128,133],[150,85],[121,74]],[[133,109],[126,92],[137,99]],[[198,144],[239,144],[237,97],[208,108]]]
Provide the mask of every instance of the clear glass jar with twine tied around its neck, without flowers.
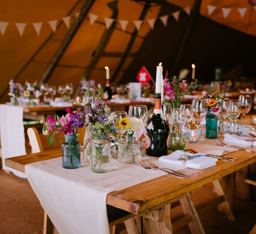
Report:
[[108,136],[96,137],[91,139],[90,166],[93,172],[109,172],[110,166],[110,139]]

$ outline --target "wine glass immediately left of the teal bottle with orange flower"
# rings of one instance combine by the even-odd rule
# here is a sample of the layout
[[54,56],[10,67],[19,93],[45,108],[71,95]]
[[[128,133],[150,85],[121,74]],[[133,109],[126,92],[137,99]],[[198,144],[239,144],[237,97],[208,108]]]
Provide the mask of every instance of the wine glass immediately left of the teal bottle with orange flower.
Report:
[[204,99],[194,99],[192,101],[193,107],[193,118],[196,121],[197,129],[199,128],[199,123],[205,119],[207,115],[207,105]]

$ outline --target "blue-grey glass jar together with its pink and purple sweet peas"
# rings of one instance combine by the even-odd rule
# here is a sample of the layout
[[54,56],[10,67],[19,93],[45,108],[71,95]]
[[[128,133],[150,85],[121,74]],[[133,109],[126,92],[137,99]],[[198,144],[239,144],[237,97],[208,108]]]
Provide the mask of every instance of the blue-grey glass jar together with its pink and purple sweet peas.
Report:
[[[70,108],[66,109],[67,114],[59,117],[55,115],[52,118],[49,115],[43,127],[43,134],[47,135],[46,139],[49,146],[55,140],[56,133],[64,133],[65,142],[62,144],[62,166],[67,169],[80,167],[80,143],[77,141],[78,129],[84,127],[83,117],[80,113],[72,112]],[[53,132],[53,133],[52,133]]]

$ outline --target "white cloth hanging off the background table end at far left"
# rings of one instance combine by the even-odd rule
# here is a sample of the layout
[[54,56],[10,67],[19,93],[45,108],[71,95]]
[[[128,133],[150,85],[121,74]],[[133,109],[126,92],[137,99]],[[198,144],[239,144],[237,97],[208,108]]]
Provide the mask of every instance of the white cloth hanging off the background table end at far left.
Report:
[[26,154],[23,107],[0,105],[2,169],[26,178],[25,173],[5,166],[5,159]]

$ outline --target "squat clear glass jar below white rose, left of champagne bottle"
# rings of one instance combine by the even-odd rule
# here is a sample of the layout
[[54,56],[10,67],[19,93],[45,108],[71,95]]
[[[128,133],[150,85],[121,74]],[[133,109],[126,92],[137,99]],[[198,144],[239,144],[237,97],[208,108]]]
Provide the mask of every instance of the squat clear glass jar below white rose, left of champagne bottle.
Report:
[[138,163],[141,158],[141,142],[134,141],[133,136],[118,141],[118,161],[123,163]]

